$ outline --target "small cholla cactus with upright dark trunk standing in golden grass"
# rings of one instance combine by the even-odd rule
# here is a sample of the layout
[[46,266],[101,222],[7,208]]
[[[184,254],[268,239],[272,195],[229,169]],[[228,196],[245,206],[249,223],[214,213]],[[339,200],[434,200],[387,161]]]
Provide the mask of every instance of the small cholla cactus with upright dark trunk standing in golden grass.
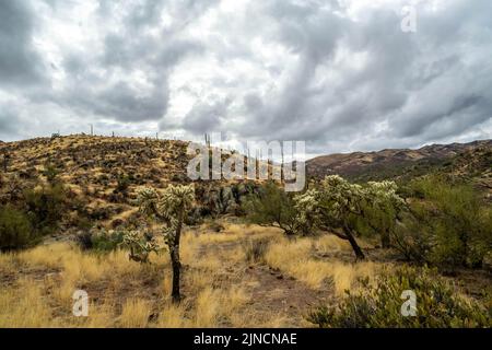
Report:
[[181,299],[179,292],[179,275],[181,268],[179,241],[185,214],[191,209],[194,201],[195,189],[192,185],[169,185],[162,195],[159,195],[153,188],[144,188],[138,196],[140,210],[148,215],[155,217],[164,224],[162,233],[169,249],[173,268],[172,298],[174,302],[179,302]]

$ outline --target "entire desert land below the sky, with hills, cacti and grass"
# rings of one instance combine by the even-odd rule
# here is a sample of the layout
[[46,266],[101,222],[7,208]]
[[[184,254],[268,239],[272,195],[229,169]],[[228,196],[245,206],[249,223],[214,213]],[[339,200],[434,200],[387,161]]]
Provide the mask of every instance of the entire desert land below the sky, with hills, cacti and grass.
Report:
[[[314,179],[345,178],[292,194],[191,182],[184,141],[2,143],[0,327],[489,326],[491,144],[321,156]],[[401,318],[408,281],[432,317]]]

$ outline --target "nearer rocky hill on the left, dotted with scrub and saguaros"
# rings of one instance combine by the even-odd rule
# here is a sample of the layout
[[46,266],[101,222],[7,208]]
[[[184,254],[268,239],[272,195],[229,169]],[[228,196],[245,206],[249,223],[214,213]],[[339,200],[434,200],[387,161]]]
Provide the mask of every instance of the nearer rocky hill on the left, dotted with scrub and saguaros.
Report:
[[[143,186],[189,183],[188,142],[86,135],[36,138],[0,145],[0,205],[22,199],[49,177],[77,198],[73,215],[116,226],[136,214]],[[197,182],[201,213],[234,213],[254,182]],[[75,208],[77,207],[77,208]],[[197,213],[197,215],[200,213]]]

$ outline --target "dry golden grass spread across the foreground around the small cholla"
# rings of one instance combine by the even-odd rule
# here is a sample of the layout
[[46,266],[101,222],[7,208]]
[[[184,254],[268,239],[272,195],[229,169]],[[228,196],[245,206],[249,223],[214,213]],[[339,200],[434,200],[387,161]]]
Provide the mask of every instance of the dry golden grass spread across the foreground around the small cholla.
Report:
[[[0,289],[2,327],[280,327],[304,325],[285,311],[258,313],[251,295],[262,290],[258,280],[243,281],[248,268],[244,243],[269,240],[265,261],[316,290],[335,282],[335,291],[353,288],[359,277],[372,277],[371,262],[343,264],[316,259],[314,252],[350,249],[335,237],[289,241],[277,229],[224,224],[221,233],[188,230],[181,240],[184,301],[173,304],[167,252],[151,255],[151,265],[128,259],[128,253],[81,252],[74,244],[54,243],[17,254],[0,254],[0,275],[9,285]],[[261,264],[261,262],[259,262]],[[16,271],[27,271],[20,275]],[[268,273],[268,272],[267,272]],[[279,282],[281,283],[281,282]],[[272,298],[283,298],[278,285]],[[89,317],[72,315],[77,289],[90,294]],[[150,318],[150,315],[157,317]],[[302,319],[302,317],[298,317]]]

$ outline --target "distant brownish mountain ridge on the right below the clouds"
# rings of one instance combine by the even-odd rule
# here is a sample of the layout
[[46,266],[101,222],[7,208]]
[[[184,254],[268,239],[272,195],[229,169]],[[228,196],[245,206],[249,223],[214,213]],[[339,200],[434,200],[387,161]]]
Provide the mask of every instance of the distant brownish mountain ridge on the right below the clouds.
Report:
[[[430,172],[478,177],[490,183],[492,140],[431,144],[418,150],[393,149],[321,155],[306,162],[307,174],[338,174],[355,182],[409,179]],[[489,180],[487,180],[489,178]]]

